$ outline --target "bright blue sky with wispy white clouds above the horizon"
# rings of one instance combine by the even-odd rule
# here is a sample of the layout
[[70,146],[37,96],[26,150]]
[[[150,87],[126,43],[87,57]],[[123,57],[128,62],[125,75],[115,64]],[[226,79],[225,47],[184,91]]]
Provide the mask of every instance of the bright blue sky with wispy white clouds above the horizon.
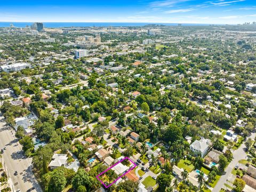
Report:
[[237,24],[256,21],[256,0],[2,0],[0,21]]

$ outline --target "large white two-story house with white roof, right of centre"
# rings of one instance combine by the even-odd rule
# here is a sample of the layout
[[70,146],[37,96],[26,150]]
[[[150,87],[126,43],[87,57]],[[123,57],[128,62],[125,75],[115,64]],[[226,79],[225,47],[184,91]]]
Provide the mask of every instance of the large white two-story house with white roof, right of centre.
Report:
[[204,157],[209,148],[210,148],[210,145],[211,145],[211,141],[209,139],[200,139],[199,141],[198,140],[195,140],[190,146],[189,148],[194,151],[194,153],[201,153],[201,157]]

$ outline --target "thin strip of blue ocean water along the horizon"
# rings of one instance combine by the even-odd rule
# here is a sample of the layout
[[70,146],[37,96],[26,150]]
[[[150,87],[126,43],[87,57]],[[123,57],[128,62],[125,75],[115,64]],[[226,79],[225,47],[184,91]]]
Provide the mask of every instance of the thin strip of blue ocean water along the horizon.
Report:
[[[140,22],[43,22],[44,27],[58,28],[58,27],[129,27],[129,26],[145,26],[145,25],[165,25],[165,26],[178,26],[178,23],[140,23]],[[0,27],[26,27],[31,26],[33,22],[0,22]],[[190,24],[182,23],[182,26],[209,26],[209,24]]]

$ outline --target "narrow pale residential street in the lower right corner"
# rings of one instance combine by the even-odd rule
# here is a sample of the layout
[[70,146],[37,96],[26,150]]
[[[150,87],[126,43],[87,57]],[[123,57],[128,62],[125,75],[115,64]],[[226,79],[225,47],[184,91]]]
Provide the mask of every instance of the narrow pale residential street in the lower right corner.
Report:
[[[250,138],[252,138],[254,140],[256,133],[252,133]],[[233,168],[238,164],[238,161],[241,159],[247,159],[247,154],[245,153],[244,149],[245,149],[245,145],[244,142],[242,143],[242,145],[233,152],[233,160],[229,163],[227,169],[225,170],[226,173],[224,175],[221,176],[220,180],[218,181],[217,185],[213,188],[213,192],[219,192],[220,189],[223,187],[225,188],[224,184],[227,182],[227,180],[233,180],[233,174],[231,173],[231,171],[233,170]],[[230,185],[230,183],[228,183]]]

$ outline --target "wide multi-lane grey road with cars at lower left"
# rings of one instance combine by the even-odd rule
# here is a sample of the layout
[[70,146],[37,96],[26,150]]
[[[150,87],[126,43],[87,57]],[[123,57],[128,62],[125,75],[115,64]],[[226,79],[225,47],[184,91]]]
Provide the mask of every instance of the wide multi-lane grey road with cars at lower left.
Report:
[[[12,133],[13,132],[13,133]],[[22,153],[22,147],[18,139],[14,137],[14,131],[5,126],[4,118],[0,116],[0,149],[3,149],[2,163],[7,175],[10,177],[10,187],[12,191],[20,189],[21,192],[26,192],[31,187],[35,187],[34,191],[41,192],[35,176],[31,170],[31,158],[26,158]],[[14,175],[17,171],[18,175]]]

